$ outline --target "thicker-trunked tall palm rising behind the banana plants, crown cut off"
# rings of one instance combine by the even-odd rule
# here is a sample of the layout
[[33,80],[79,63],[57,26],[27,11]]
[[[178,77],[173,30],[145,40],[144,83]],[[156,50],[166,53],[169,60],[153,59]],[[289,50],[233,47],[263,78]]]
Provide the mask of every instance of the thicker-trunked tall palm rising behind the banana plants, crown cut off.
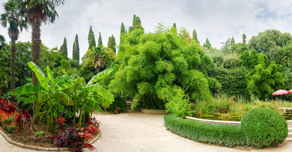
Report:
[[[31,25],[32,42],[32,62],[39,65],[40,44],[41,44],[41,25],[42,23],[54,23],[58,17],[56,7],[64,4],[64,0],[14,0],[17,1],[19,8],[27,16],[27,22]],[[32,84],[38,85],[35,73],[32,74]]]

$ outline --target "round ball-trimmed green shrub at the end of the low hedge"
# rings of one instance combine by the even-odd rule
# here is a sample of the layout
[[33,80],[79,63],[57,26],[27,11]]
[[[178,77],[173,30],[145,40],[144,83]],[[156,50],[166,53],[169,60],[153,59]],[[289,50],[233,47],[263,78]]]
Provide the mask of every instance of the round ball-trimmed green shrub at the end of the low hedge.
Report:
[[241,119],[241,128],[249,146],[262,148],[279,144],[287,137],[285,119],[268,108],[254,108],[247,111]]

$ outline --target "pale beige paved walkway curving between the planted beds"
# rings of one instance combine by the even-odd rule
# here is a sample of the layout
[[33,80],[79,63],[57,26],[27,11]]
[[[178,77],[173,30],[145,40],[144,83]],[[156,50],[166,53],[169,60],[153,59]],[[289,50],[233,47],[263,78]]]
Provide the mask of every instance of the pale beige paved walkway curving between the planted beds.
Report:
[[[240,150],[182,138],[165,129],[162,115],[122,113],[94,114],[101,122],[101,137],[95,151],[292,151],[292,142],[277,148]],[[0,151],[34,151],[9,144],[0,136]],[[89,151],[89,150],[85,150]]]

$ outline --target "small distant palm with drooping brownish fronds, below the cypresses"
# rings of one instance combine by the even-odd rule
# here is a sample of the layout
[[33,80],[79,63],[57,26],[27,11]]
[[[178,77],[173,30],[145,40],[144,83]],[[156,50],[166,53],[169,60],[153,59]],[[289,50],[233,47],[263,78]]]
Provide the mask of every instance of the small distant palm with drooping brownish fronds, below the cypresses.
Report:
[[100,68],[103,68],[103,60],[106,56],[103,47],[100,45],[98,47],[92,47],[89,53],[89,57],[92,60],[94,68],[96,68],[97,73],[99,73]]

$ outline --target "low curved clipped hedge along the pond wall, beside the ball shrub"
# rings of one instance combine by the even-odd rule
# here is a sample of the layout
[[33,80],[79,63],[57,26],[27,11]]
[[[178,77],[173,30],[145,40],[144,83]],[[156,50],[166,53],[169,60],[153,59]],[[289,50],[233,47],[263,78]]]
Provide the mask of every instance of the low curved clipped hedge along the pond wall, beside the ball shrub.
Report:
[[201,123],[177,118],[172,114],[164,116],[164,124],[171,132],[191,140],[225,146],[246,146],[240,126]]

